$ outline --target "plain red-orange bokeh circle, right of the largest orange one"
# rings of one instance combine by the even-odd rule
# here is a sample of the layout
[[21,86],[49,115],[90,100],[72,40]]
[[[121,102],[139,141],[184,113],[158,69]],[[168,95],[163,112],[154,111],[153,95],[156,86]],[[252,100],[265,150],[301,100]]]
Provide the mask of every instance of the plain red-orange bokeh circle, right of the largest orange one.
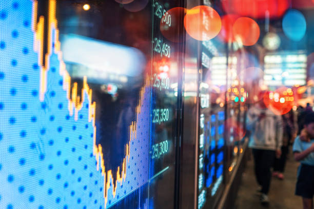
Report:
[[249,17],[239,17],[235,20],[232,32],[235,40],[244,46],[254,45],[260,37],[259,25]]

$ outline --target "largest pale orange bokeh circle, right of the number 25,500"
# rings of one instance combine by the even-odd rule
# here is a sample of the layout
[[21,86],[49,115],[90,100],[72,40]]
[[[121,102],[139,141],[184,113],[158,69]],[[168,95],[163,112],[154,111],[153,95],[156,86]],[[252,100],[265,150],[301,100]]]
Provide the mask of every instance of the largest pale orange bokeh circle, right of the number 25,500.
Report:
[[209,40],[220,32],[221,19],[213,8],[197,6],[187,10],[184,17],[184,27],[192,38]]

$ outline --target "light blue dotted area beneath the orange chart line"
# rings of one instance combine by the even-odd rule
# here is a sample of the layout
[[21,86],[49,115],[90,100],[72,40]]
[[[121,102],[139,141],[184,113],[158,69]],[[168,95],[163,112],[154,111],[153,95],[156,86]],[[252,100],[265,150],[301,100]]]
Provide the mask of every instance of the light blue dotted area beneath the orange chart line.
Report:
[[[32,4],[0,4],[0,208],[108,208],[148,181],[149,99],[137,116],[145,123],[136,124],[146,134],[130,143],[127,178],[118,183],[115,197],[110,187],[104,205],[104,177],[96,170],[88,121],[90,101],[85,99],[74,120],[56,54],[50,56],[45,99],[39,99]],[[149,98],[149,90],[144,97]]]

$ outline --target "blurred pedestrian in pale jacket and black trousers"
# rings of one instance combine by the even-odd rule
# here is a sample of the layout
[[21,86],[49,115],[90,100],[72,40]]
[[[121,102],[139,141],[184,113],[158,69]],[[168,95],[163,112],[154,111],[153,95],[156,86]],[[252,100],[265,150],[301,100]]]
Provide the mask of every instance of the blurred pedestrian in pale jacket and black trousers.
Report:
[[283,125],[282,117],[267,109],[263,99],[254,104],[247,113],[247,130],[250,131],[249,148],[254,157],[254,170],[259,183],[261,203],[268,204],[271,179],[270,168],[274,158],[281,155]]

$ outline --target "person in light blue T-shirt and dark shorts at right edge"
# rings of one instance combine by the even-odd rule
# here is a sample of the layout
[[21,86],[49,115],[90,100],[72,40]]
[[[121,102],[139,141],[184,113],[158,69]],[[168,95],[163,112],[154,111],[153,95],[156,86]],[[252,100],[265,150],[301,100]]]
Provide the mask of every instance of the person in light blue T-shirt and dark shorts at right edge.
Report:
[[301,164],[298,168],[296,195],[301,196],[304,209],[313,208],[314,195],[314,113],[305,116],[304,130],[309,140],[297,136],[293,143],[293,155]]

